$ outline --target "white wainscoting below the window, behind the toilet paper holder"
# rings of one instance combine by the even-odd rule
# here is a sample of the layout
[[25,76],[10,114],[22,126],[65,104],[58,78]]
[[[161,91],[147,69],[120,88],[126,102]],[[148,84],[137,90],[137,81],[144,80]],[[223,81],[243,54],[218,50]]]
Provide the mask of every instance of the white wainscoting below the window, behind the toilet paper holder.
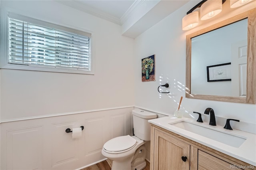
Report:
[[[130,134],[134,107],[1,123],[1,170],[79,170],[104,160],[107,140]],[[84,126],[80,138],[66,128]]]

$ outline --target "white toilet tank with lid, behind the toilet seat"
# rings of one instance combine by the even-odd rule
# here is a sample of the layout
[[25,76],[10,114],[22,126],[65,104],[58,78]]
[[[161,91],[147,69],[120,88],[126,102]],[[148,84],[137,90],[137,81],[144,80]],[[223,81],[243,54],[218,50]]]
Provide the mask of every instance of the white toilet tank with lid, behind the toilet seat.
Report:
[[134,135],[144,141],[150,140],[150,124],[148,120],[155,119],[156,114],[134,109],[132,111],[132,118]]

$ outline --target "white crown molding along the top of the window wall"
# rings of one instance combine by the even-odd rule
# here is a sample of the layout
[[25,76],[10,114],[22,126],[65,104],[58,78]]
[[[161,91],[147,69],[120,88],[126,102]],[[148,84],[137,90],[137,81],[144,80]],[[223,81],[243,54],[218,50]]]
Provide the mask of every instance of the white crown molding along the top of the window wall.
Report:
[[120,19],[116,18],[114,16],[111,16],[105,12],[102,12],[100,10],[97,10],[96,8],[90,7],[90,6],[86,6],[85,4],[80,3],[77,0],[54,0],[55,2],[64,4],[66,6],[69,6],[71,8],[75,8],[77,10],[80,10],[82,12],[86,12],[88,14],[91,14],[93,16],[96,16],[98,18],[102,18],[104,20],[113,22],[115,24],[121,25]]

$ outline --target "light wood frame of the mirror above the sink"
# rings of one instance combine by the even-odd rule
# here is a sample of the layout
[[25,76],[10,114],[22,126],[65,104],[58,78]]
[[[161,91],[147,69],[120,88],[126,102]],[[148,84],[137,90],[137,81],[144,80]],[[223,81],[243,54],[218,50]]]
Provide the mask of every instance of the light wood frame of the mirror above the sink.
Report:
[[[248,18],[246,97],[191,94],[191,39]],[[186,36],[186,98],[256,104],[256,8]]]

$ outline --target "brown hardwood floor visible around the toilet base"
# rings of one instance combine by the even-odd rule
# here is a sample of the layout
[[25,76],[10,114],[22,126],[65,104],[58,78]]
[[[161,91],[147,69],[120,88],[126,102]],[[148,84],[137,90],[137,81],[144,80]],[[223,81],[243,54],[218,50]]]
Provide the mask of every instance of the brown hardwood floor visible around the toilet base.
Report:
[[[150,169],[150,163],[146,160],[146,167],[143,170],[149,170]],[[99,162],[98,164],[89,166],[87,168],[84,168],[82,170],[111,170],[112,162],[111,160],[104,160],[102,162]]]

